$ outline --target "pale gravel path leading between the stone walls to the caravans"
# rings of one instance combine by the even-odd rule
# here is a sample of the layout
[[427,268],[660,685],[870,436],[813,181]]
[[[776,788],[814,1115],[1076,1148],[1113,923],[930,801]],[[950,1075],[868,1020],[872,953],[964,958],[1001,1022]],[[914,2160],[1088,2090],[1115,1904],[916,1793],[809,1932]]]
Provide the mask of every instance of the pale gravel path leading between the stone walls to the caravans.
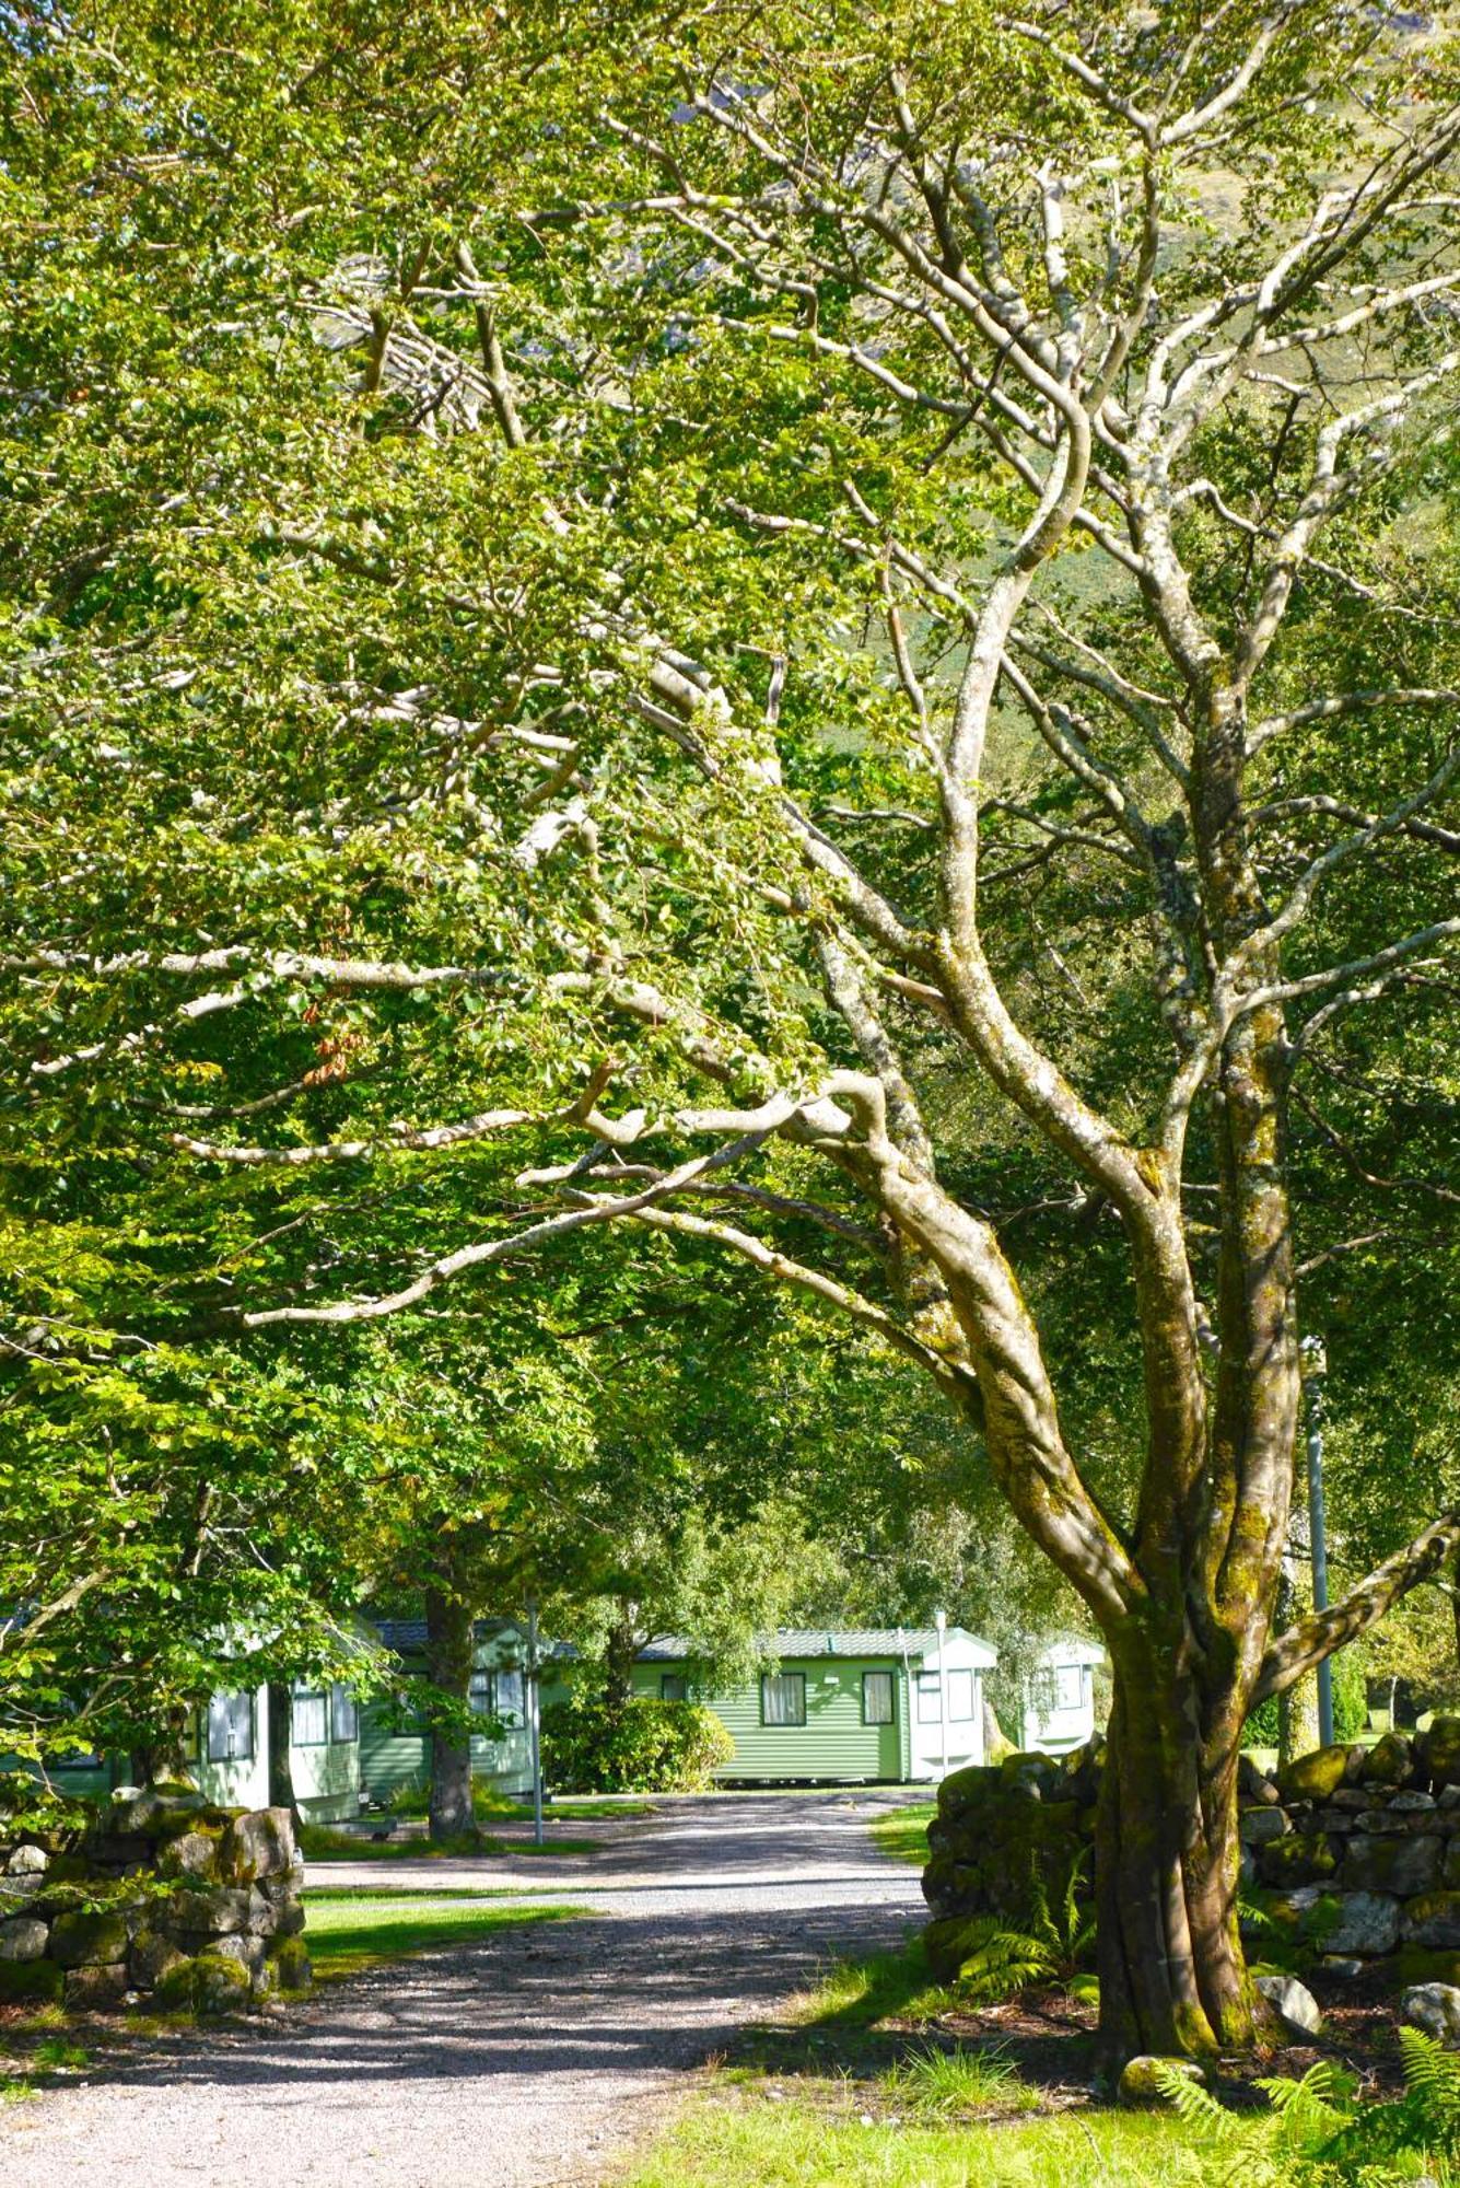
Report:
[[[903,1796],[898,1796],[903,1799]],[[594,2184],[680,2076],[833,1952],[896,1943],[918,1871],[885,1794],[680,1801],[564,1825],[590,1855],[350,1862],[313,1882],[527,1884],[592,1921],[503,1930],[330,1987],[282,2020],[166,2041],[0,2116],[2,2188]],[[544,1871],[551,1877],[544,1879]]]

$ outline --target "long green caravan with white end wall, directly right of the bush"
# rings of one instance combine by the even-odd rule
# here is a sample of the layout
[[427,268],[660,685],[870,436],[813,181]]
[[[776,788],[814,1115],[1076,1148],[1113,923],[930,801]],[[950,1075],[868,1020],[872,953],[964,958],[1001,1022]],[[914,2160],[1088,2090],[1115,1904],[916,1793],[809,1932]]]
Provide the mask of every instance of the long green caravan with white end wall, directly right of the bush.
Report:
[[962,1626],[763,1634],[765,1669],[717,1689],[667,1634],[638,1652],[634,1691],[704,1702],[734,1739],[723,1783],[925,1783],[984,1761],[984,1674],[997,1652]]

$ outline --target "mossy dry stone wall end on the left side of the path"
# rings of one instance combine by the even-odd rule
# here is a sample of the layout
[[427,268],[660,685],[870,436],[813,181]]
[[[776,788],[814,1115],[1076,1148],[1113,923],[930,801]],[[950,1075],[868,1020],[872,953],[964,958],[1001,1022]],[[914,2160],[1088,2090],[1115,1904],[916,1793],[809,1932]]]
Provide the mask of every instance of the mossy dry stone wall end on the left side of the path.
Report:
[[227,2013],[310,1982],[286,1807],[120,1792],[85,1829],[0,1812],[0,2004]]

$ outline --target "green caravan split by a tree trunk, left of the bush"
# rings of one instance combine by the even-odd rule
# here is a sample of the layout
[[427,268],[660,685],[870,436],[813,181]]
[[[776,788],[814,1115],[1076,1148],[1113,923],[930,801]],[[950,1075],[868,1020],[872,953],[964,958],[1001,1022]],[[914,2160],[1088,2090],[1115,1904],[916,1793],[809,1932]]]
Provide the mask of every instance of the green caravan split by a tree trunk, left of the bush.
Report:
[[[387,1700],[361,1709],[361,1792],[389,1807],[400,1792],[431,1785],[431,1735],[411,1713],[411,1685],[426,1676],[426,1621],[380,1619],[376,1632],[396,1656],[400,1683]],[[542,1650],[544,1661],[555,1652]],[[527,1639],[507,1619],[479,1619],[472,1650],[472,1711],[503,1726],[501,1737],[472,1737],[472,1779],[492,1792],[531,1799],[527,1733]]]

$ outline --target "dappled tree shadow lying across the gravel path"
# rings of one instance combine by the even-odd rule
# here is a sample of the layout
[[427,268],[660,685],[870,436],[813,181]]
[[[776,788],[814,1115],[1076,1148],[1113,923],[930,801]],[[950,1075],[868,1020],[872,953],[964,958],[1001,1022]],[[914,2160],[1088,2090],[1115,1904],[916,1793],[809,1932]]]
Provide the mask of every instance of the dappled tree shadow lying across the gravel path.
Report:
[[[479,1945],[330,1985],[280,2020],[155,2039],[144,2055],[107,2061],[105,2079],[133,2090],[251,2090],[289,2105],[304,2085],[503,2083],[697,2065],[817,1965],[896,1947],[916,1919],[907,1901],[876,1904],[892,1864],[866,1836],[872,1803],[833,1801],[706,1803],[656,1818],[651,1834],[612,1853],[632,1853],[640,1877],[649,1866],[662,1871],[645,1888],[673,1893],[664,1910],[605,1910],[551,1932],[494,1930]],[[868,1882],[866,1906],[817,1904],[806,1877],[809,1869],[839,1866],[841,1827],[848,1882]],[[603,1871],[610,1866],[616,1862],[603,1858]],[[806,1890],[809,1904],[780,1904],[780,1884]],[[914,1877],[909,1884],[916,1890]],[[697,1888],[721,1904],[695,1912]],[[361,2103],[369,2103],[363,2090]]]

